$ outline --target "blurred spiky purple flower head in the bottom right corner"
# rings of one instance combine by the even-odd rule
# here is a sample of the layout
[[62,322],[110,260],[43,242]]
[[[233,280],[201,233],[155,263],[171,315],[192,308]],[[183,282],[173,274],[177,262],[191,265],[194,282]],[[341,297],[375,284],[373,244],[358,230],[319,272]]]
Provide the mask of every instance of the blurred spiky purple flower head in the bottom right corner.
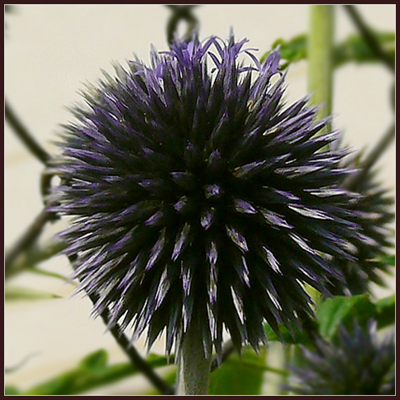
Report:
[[302,367],[291,367],[295,394],[395,394],[394,335],[379,341],[375,321],[341,327],[337,343],[319,341],[316,350],[303,347]]

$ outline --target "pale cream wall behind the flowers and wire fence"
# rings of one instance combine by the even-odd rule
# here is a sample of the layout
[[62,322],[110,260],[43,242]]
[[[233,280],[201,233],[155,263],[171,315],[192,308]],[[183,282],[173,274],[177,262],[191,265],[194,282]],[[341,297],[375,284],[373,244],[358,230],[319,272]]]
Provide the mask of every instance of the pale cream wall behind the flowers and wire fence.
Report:
[[[395,5],[361,5],[361,13],[373,27],[395,29]],[[112,71],[111,61],[124,62],[136,53],[148,60],[150,44],[158,50],[166,45],[165,27],[170,11],[159,5],[123,6],[18,6],[7,15],[5,43],[5,91],[8,101],[36,138],[54,152],[51,140],[67,122],[66,106],[79,100],[78,91],[86,81],[101,76],[100,69]],[[272,42],[305,32],[305,5],[207,5],[194,13],[201,22],[204,38],[216,34],[226,38],[230,27],[238,39],[247,37],[262,55]],[[354,31],[347,15],[337,8],[336,38]],[[347,65],[335,74],[335,127],[356,149],[371,147],[392,123],[389,87],[392,76],[384,67]],[[288,74],[288,100],[307,93],[306,63],[293,65]],[[5,242],[12,244],[27,223],[41,210],[39,174],[41,164],[28,154],[5,126]],[[394,145],[380,160],[379,177],[394,190]],[[60,226],[51,227],[56,232]],[[46,234],[50,236],[48,232]],[[65,258],[44,264],[49,270],[69,274]],[[71,286],[56,279],[25,274],[15,285],[29,286],[62,295],[60,300],[14,302],[6,305],[5,363],[13,366],[27,354],[37,353],[20,371],[6,375],[8,384],[30,387],[51,375],[76,365],[88,352],[109,349],[112,361],[125,356],[105,333],[100,320],[89,318],[90,304],[80,295],[71,298]],[[394,278],[387,291],[392,293]],[[139,344],[140,347],[140,344]],[[162,352],[162,344],[155,351]],[[140,390],[141,380],[127,380],[96,393],[122,394]]]

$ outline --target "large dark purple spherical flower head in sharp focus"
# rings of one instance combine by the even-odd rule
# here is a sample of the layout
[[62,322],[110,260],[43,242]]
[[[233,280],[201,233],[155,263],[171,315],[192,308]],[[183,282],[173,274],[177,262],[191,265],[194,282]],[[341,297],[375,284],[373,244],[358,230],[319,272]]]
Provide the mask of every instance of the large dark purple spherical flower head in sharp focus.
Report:
[[286,107],[279,53],[260,65],[245,44],[176,41],[150,66],[116,65],[74,108],[53,165],[79,287],[133,340],[165,331],[167,353],[191,324],[206,354],[224,329],[257,349],[265,321],[312,315],[305,284],[340,279],[332,258],[353,259],[338,133],[320,134],[307,98]]

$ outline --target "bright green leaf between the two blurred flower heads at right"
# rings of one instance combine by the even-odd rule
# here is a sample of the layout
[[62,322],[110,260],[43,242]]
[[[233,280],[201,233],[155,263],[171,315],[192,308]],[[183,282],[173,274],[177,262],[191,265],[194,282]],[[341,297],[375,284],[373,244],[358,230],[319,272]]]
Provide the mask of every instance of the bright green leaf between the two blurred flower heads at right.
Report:
[[336,296],[326,299],[316,312],[319,322],[319,333],[324,338],[334,338],[340,325],[348,328],[359,321],[365,326],[368,319],[378,314],[376,306],[369,300],[368,295]]

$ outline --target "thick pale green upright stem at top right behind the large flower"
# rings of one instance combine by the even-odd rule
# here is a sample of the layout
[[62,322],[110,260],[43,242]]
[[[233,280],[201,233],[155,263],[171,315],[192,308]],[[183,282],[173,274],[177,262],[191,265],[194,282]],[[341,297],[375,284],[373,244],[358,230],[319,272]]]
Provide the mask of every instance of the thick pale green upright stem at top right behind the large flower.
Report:
[[[310,6],[310,31],[308,40],[308,90],[312,103],[320,105],[318,119],[332,113],[333,84],[333,6],[313,4]],[[331,124],[326,126],[331,130]]]

